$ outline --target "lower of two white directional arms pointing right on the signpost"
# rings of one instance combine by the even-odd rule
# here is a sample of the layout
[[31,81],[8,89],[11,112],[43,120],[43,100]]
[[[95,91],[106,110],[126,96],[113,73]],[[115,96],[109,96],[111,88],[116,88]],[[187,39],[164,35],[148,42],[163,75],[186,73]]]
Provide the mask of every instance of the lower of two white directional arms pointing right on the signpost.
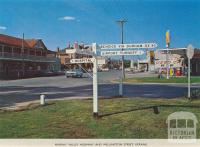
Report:
[[102,51],[102,56],[119,56],[119,55],[142,55],[142,50],[127,50],[127,51]]

